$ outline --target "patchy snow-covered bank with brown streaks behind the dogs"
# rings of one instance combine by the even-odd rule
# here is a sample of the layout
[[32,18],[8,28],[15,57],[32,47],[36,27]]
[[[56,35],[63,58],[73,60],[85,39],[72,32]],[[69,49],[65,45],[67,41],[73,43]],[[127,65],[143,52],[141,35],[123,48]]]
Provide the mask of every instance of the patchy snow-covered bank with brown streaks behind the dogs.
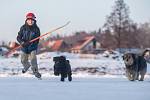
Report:
[[[71,53],[43,53],[38,55],[38,66],[43,76],[53,74],[53,57],[64,55],[70,60],[74,75],[124,75],[125,65],[119,54],[80,55]],[[21,74],[22,64],[19,58],[0,58],[0,77]],[[31,73],[32,71],[29,71]],[[150,67],[148,65],[148,72]],[[26,75],[26,74],[25,74]],[[23,76],[25,76],[23,75]]]

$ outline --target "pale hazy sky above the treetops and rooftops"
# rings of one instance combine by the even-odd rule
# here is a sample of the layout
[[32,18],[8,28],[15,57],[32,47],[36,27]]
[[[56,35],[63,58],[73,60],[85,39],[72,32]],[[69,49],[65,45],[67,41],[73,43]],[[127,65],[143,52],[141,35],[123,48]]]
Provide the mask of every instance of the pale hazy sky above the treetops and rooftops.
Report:
[[[58,31],[71,34],[76,31],[98,30],[116,0],[0,0],[0,40],[16,40],[28,12],[35,13],[41,33],[71,24]],[[138,23],[150,22],[150,0],[124,0],[130,7],[130,17]],[[56,34],[56,33],[53,33]]]

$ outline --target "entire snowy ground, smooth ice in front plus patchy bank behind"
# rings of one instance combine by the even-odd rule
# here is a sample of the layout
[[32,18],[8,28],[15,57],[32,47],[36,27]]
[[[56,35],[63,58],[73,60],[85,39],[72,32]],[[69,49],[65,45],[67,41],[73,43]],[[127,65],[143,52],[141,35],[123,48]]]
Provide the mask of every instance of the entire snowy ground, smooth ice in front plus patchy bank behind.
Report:
[[[59,55],[70,60],[72,82],[53,75],[53,57]],[[0,100],[150,100],[150,65],[145,81],[128,81],[121,55],[44,53],[38,65],[42,80],[31,70],[21,73],[20,57],[0,57]]]

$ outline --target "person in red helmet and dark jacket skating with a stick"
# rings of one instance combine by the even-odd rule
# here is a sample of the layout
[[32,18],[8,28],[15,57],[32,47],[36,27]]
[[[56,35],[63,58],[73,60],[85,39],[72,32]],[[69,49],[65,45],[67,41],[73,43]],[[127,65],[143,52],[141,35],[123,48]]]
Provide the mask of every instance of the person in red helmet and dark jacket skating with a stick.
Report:
[[24,67],[22,69],[22,73],[26,73],[31,66],[35,77],[41,78],[41,74],[38,71],[36,57],[39,40],[36,40],[32,43],[29,42],[32,39],[40,36],[40,29],[37,26],[35,19],[36,17],[33,13],[28,13],[26,15],[25,24],[20,28],[20,31],[18,32],[17,41],[22,46],[21,63]]

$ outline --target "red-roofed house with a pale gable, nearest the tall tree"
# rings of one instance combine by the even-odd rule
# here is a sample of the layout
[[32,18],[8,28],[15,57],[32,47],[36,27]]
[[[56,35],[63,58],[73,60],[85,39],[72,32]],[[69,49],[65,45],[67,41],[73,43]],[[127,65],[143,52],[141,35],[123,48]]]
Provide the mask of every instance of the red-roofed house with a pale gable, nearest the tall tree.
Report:
[[95,50],[100,49],[101,44],[97,42],[94,36],[86,36],[76,42],[71,48],[72,53],[93,53]]

